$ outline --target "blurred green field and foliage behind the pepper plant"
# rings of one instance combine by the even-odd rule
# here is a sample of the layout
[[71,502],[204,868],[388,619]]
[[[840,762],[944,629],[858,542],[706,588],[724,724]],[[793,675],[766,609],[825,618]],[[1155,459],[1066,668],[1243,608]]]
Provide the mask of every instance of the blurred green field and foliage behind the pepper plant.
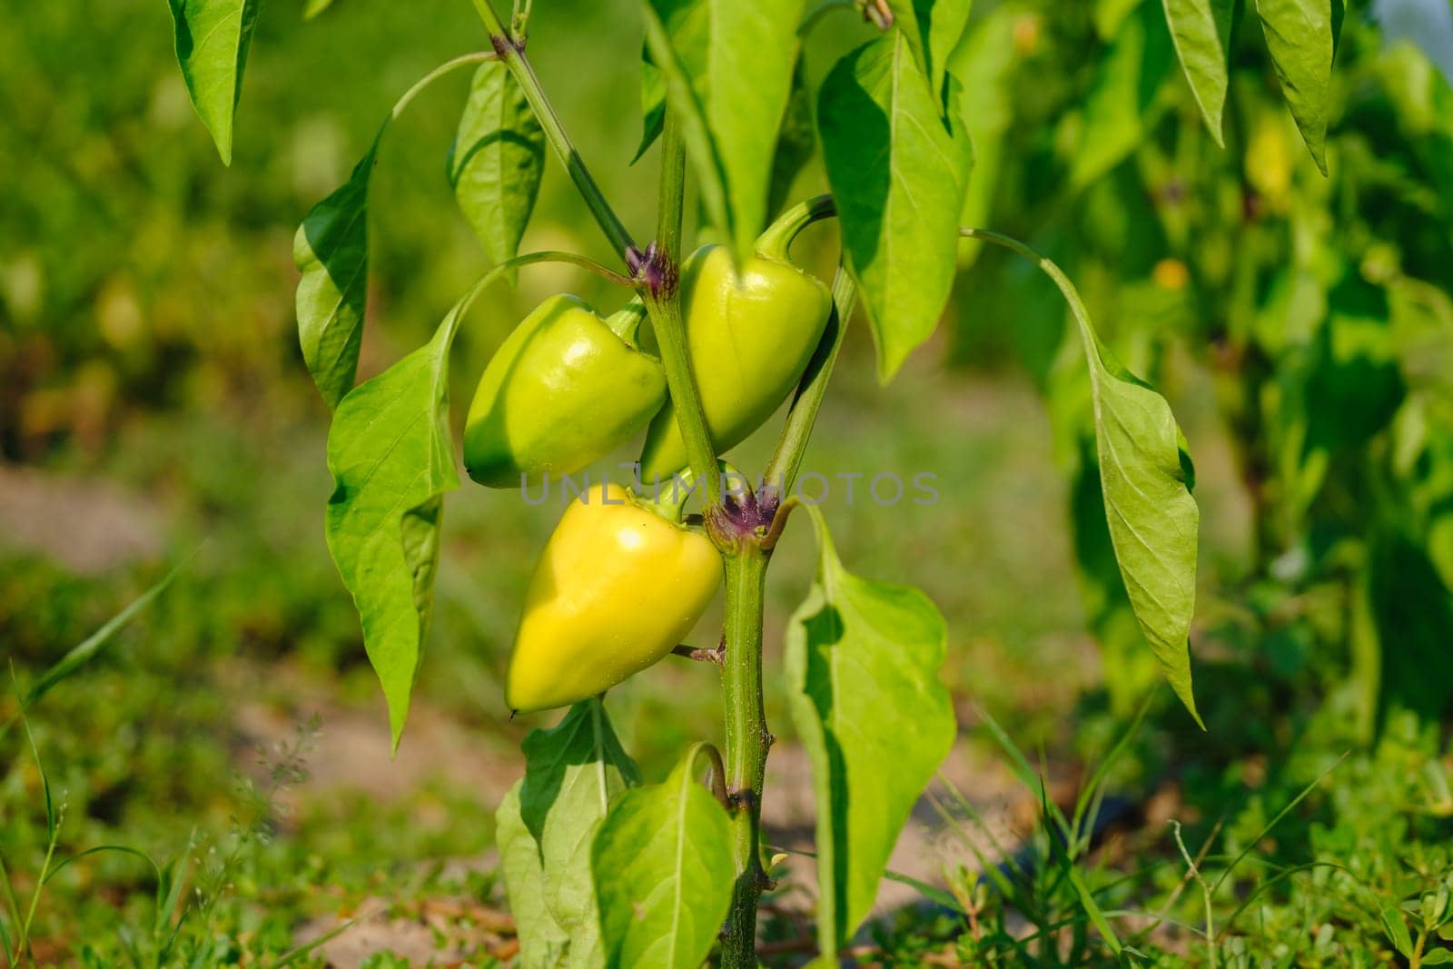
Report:
[[[538,73],[642,234],[655,170],[654,154],[629,164],[636,17],[625,3],[535,6]],[[1222,962],[1412,962],[1412,941],[1431,953],[1444,937],[1422,898],[1437,908],[1453,886],[1453,13],[1443,0],[1348,4],[1324,177],[1254,12],[1235,35],[1225,148],[1158,12],[1155,0],[979,0],[953,68],[976,151],[965,221],[1059,261],[1187,429],[1203,513],[1191,645],[1209,731],[1154,686],[1109,549],[1082,363],[1033,266],[966,241],[940,336],[886,391],[854,327],[808,468],[834,485],[851,471],[937,475],[939,504],[885,510],[834,492],[828,516],[854,571],[917,584],[947,616],[944,676],[975,767],[965,773],[960,754],[950,764],[969,800],[997,805],[1039,851],[1040,875],[1053,835],[1035,821],[1037,793],[995,800],[1013,786],[982,712],[1040,751],[1052,798],[1072,799],[1149,692],[1110,771],[1125,806],[1106,808],[1096,853],[1077,857],[1103,908],[1168,899],[1168,921],[1128,930],[1146,960],[1207,959],[1181,924],[1205,912],[1186,891],[1173,816],[1191,851],[1207,846],[1207,876],[1251,853],[1238,893],[1215,899]],[[327,410],[296,346],[291,256],[298,219],[346,177],[394,99],[484,36],[466,3],[336,0],[302,15],[289,0],[263,13],[230,169],[187,103],[163,4],[19,4],[0,23],[0,644],[15,680],[35,681],[192,556],[103,658],[28,712],[44,779],[25,731],[0,735],[0,859],[28,899],[49,838],[48,780],[65,805],[61,854],[126,844],[173,859],[198,965],[275,960],[365,915],[394,934],[360,952],[449,962],[437,953],[465,938],[477,944],[456,962],[491,965],[509,956],[509,931],[491,921],[488,809],[530,726],[507,722],[498,681],[558,506],[475,488],[450,501],[420,703],[389,761],[323,542]],[[1144,45],[1123,41],[1133,29]],[[851,13],[827,16],[805,48],[808,76],[866,31]],[[432,87],[385,141],[360,376],[417,346],[485,267],[445,176],[466,84],[461,73]],[[809,167],[789,198],[824,185]],[[612,261],[554,160],[522,247],[533,248]],[[796,254],[827,275],[834,251],[824,227]],[[464,330],[456,401],[510,325],[567,288],[606,309],[622,301],[570,267],[526,269]],[[737,463],[758,463],[772,436]],[[809,580],[799,539],[774,569],[769,641]],[[769,716],[785,728],[780,689],[769,686]],[[6,693],[0,718],[17,709]],[[702,670],[671,662],[612,694],[648,776],[711,732],[713,694]],[[790,738],[773,758],[779,790],[801,790]],[[783,811],[788,840],[799,819]],[[950,832],[972,827],[955,818]],[[974,917],[905,909],[865,943],[873,957],[1109,959],[1068,882],[985,893],[936,857],[908,861],[946,877]],[[953,857],[979,870],[962,848]],[[180,957],[135,928],[154,917],[157,880],[121,854],[70,866],[38,907],[38,959]],[[767,927],[779,941],[793,937],[793,898],[789,883]],[[995,920],[1003,938],[985,928]],[[426,925],[424,941],[400,924]],[[1024,941],[1026,925],[1043,934]],[[321,952],[363,960],[331,947]],[[785,963],[801,962],[793,952],[782,949]]]

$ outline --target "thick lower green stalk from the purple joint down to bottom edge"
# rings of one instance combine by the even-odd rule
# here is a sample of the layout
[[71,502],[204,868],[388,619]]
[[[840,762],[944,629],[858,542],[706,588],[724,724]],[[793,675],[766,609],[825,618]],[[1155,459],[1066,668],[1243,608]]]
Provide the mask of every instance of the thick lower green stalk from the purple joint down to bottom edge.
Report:
[[772,745],[767,715],[761,708],[761,596],[769,555],[751,539],[726,555],[726,655],[722,658],[722,692],[726,708],[726,792],[731,802],[737,883],[726,915],[726,931],[722,934],[722,969],[756,969],[757,899],[767,882],[761,869],[758,827],[767,748]]

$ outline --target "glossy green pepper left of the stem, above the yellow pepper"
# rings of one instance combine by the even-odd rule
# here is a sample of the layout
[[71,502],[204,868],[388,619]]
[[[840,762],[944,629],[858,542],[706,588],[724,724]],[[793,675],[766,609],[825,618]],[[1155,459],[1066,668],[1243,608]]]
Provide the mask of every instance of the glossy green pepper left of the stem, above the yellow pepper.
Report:
[[469,405],[464,463],[493,488],[568,475],[625,445],[665,401],[661,365],[636,350],[632,301],[602,318],[551,296],[504,340]]

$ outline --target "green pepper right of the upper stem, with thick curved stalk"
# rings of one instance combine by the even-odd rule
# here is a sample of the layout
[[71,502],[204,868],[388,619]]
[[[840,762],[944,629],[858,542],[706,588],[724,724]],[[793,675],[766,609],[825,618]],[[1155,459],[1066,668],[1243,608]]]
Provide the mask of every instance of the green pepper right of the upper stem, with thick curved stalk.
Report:
[[[718,455],[772,417],[822,338],[831,292],[788,261],[786,250],[805,225],[828,215],[827,198],[796,206],[763,232],[757,254],[740,267],[718,246],[696,250],[681,266],[687,353]],[[647,431],[641,479],[664,481],[686,463],[676,407],[667,401]]]

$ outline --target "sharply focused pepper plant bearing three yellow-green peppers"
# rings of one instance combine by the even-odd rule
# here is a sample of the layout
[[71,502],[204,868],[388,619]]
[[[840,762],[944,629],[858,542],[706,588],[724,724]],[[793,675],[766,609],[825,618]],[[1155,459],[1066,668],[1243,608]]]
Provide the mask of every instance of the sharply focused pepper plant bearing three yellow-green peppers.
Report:
[[[968,32],[969,0],[828,0],[811,10],[804,0],[622,3],[622,16],[638,16],[645,36],[642,151],[660,141],[657,222],[639,240],[591,177],[546,94],[548,78],[530,64],[529,0],[509,17],[497,0],[472,1],[481,49],[400,97],[295,241],[302,356],[334,411],[328,548],[357,606],[395,748],[429,631],[443,501],[461,484],[452,341],[491,286],[536,263],[571,263],[619,283],[620,309],[602,317],[570,295],[545,301],[482,375],[464,439],[472,478],[525,487],[577,471],[645,430],[629,488],[581,495],[561,519],[523,603],[507,696],[498,697],[522,712],[568,705],[555,726],[526,738],[526,774],[498,809],[522,962],[695,966],[715,952],[724,966],[757,965],[757,904],[769,886],[760,808],[772,796],[763,779],[773,741],[763,710],[763,590],[796,508],[815,530],[818,568],[786,629],[782,674],[812,763],[818,947],[833,962],[867,915],[898,832],[956,732],[939,681],[939,612],[914,588],[849,571],[827,516],[793,495],[854,308],[862,305],[878,378],[888,384],[934,333],[965,238],[1005,247],[1052,279],[1088,382],[1087,462],[1097,469],[1114,567],[1151,654],[1199,721],[1187,642],[1199,511],[1184,436],[1165,400],[1101,341],[1055,263],[963,224],[984,211],[969,138],[981,119],[966,86],[992,54]],[[177,60],[224,161],[259,6],[171,0]],[[1231,38],[1255,29],[1252,4],[1109,6],[1133,10],[1120,17],[1117,41],[1128,64],[1152,51],[1168,62],[1174,48],[1219,141]],[[1343,4],[1254,6],[1290,115],[1325,169]],[[815,83],[802,65],[804,38],[834,16],[859,16],[862,36]],[[464,67],[474,68],[474,81],[448,174],[494,264],[424,346],[357,384],[379,144],[420,90]],[[1120,87],[1139,96],[1133,84]],[[519,253],[546,148],[618,264]],[[827,192],[785,206],[815,153]],[[1094,177],[1117,153],[1117,144],[1087,144],[1077,177]],[[702,212],[699,234],[711,240],[692,254],[687,182]],[[841,259],[828,285],[796,267],[789,248],[806,225],[834,218]],[[766,469],[754,485],[734,487],[742,478],[721,456],[783,402]],[[696,513],[683,507],[681,484],[690,485],[686,500],[699,498]],[[718,584],[726,603],[719,645],[680,644]],[[725,723],[683,751],[668,777],[645,783],[602,694],[670,652],[721,667]]]

